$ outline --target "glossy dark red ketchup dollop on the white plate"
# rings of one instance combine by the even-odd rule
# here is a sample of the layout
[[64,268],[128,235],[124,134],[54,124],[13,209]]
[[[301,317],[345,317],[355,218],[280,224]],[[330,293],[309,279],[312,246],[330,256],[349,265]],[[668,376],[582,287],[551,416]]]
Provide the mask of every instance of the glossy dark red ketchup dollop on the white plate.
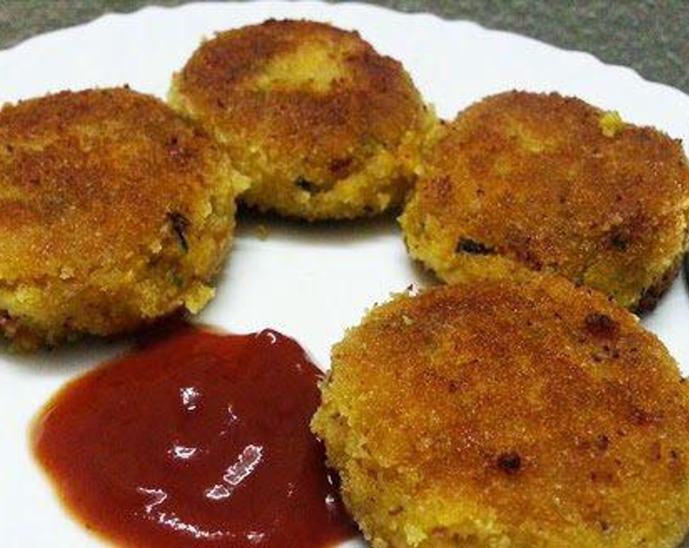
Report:
[[309,431],[321,377],[277,332],[178,329],[61,389],[34,453],[119,545],[335,544],[355,529]]

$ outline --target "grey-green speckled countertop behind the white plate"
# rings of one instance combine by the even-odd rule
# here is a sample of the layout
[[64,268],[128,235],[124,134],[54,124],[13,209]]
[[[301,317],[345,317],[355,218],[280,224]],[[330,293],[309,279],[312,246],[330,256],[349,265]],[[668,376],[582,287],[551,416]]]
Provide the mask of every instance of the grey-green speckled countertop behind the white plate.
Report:
[[[0,0],[0,48],[108,11],[183,0]],[[378,0],[402,11],[471,19],[627,65],[650,80],[689,92],[687,0]],[[0,74],[0,84],[2,75]]]

